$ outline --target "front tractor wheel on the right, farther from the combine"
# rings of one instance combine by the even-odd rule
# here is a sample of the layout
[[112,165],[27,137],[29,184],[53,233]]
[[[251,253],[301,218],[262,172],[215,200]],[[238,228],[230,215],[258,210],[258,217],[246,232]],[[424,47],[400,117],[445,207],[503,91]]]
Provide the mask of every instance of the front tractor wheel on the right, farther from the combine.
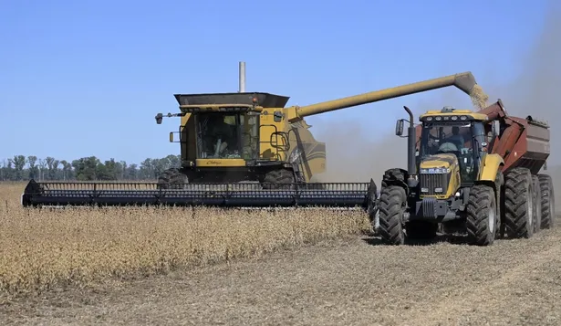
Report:
[[467,234],[469,242],[475,246],[493,244],[497,231],[496,194],[492,186],[475,184],[470,190],[467,212]]

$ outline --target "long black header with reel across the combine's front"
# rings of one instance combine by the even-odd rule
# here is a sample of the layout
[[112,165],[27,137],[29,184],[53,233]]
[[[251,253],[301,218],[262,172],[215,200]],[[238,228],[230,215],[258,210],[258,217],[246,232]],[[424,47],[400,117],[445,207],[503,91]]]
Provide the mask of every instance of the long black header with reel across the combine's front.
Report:
[[30,181],[22,195],[24,206],[60,205],[207,205],[221,207],[331,206],[371,211],[376,184],[282,184],[274,190],[259,184],[182,184],[181,189],[161,189],[156,183],[36,183]]

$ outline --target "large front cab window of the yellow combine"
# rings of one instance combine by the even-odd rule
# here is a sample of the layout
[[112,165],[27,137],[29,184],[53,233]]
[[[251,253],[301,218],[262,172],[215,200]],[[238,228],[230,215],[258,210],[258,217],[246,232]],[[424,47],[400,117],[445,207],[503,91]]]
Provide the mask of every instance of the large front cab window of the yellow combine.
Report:
[[197,153],[201,159],[252,159],[257,142],[256,116],[197,114]]

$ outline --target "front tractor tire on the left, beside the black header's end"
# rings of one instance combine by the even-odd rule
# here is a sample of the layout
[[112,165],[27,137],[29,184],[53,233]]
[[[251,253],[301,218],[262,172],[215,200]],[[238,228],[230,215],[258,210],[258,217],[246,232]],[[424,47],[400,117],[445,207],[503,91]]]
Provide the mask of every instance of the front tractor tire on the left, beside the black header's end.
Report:
[[399,185],[383,187],[379,196],[379,235],[388,245],[403,245],[403,213],[406,205],[405,189]]

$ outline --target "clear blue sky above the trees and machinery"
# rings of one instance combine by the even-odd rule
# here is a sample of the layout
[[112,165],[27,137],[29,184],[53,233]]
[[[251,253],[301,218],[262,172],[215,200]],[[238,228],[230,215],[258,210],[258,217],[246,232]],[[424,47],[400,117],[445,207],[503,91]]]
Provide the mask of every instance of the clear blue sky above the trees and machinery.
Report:
[[[288,105],[471,70],[517,73],[545,1],[0,1],[0,159],[97,155],[140,163],[179,153],[173,93],[246,90]],[[321,135],[355,119],[390,133],[402,105],[469,106],[440,89],[309,117]],[[450,103],[449,101],[453,101]],[[448,100],[448,102],[447,102]],[[493,100],[493,99],[492,99]],[[319,138],[319,136],[317,136]]]

